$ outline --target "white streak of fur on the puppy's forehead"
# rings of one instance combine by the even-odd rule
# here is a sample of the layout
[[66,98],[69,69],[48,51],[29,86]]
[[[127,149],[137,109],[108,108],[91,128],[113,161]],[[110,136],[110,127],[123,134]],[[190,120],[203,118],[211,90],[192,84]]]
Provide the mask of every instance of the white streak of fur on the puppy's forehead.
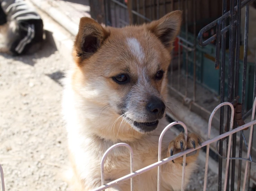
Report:
[[142,50],[140,42],[135,38],[127,38],[127,44],[132,54],[139,59],[140,62],[144,60],[145,54]]

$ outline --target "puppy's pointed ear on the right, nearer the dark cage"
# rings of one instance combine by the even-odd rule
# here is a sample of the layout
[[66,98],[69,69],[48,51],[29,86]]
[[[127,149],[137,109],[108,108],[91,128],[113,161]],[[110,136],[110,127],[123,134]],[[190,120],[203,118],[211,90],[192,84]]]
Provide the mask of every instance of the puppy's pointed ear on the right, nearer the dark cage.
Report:
[[172,43],[180,31],[182,11],[172,11],[159,20],[152,21],[146,27],[154,33],[167,49],[172,48]]

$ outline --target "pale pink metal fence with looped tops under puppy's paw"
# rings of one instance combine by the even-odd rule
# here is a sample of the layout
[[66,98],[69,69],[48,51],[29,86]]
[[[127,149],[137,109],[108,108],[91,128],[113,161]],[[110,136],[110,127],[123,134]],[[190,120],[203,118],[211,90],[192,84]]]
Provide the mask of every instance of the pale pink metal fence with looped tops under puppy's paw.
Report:
[[[217,137],[214,137],[214,138],[211,138],[211,123],[212,123],[212,119],[213,119],[213,116],[214,114],[216,113],[216,111],[223,107],[224,105],[228,105],[230,108],[231,108],[231,120],[230,120],[230,130],[226,133],[223,133]],[[187,140],[187,127],[186,125],[183,123],[183,122],[179,122],[179,121],[176,121],[176,122],[173,122],[173,123],[170,123],[169,125],[167,125],[167,127],[162,131],[160,137],[159,137],[159,143],[158,143],[158,162],[156,163],[153,163],[147,167],[144,167],[142,169],[139,169],[137,171],[134,171],[133,170],[133,150],[132,148],[130,147],[130,145],[126,144],[126,143],[117,143],[115,145],[113,145],[112,147],[110,147],[103,155],[102,159],[101,159],[101,163],[100,163],[100,168],[101,168],[101,186],[96,188],[96,189],[93,189],[92,191],[102,191],[102,190],[105,190],[109,187],[112,187],[116,184],[119,184],[123,181],[126,181],[126,180],[129,180],[131,179],[131,191],[133,191],[133,177],[135,176],[138,176],[144,172],[147,172],[153,168],[156,168],[158,167],[158,187],[157,187],[157,190],[160,191],[160,185],[161,185],[161,182],[160,182],[160,173],[161,173],[161,165],[171,161],[171,160],[174,160],[176,158],[179,158],[179,157],[182,157],[183,156],[183,172],[182,172],[182,191],[185,190],[185,184],[184,184],[184,180],[185,180],[185,170],[186,170],[186,155],[190,155],[192,154],[195,150],[197,149],[200,149],[202,147],[205,147],[206,146],[206,161],[205,161],[205,175],[204,175],[204,187],[203,187],[203,190],[205,191],[206,190],[206,185],[207,185],[207,174],[208,174],[208,161],[209,161],[209,150],[210,150],[210,144],[213,143],[213,142],[216,142],[216,141],[219,141],[220,139],[223,139],[225,137],[229,137],[229,146],[228,146],[228,152],[227,152],[227,157],[226,157],[226,172],[227,172],[227,169],[228,169],[228,166],[229,166],[229,161],[231,160],[230,158],[230,149],[231,149],[231,138],[232,138],[232,134],[233,133],[236,133],[236,132],[239,132],[241,130],[244,130],[248,127],[250,127],[250,134],[249,134],[249,142],[248,142],[248,148],[247,148],[247,158],[246,159],[243,159],[243,158],[232,158],[233,159],[239,159],[239,160],[245,160],[246,161],[246,167],[245,167],[245,172],[244,172],[244,182],[243,182],[243,187],[242,187],[242,190],[245,191],[245,188],[246,188],[246,179],[247,179],[247,168],[248,168],[248,163],[249,162],[253,162],[252,159],[251,159],[251,155],[250,155],[250,148],[251,148],[251,140],[252,140],[252,134],[253,134],[253,126],[254,124],[256,124],[256,120],[254,120],[254,115],[255,115],[255,108],[256,108],[256,98],[254,99],[254,103],[253,103],[253,111],[252,111],[252,115],[251,115],[251,121],[236,128],[236,129],[232,129],[233,127],[233,117],[234,117],[234,107],[231,103],[229,102],[223,102],[221,104],[219,104],[212,112],[211,116],[210,116],[210,119],[209,119],[209,123],[208,123],[208,140],[203,142],[201,146],[198,146],[197,148],[190,148],[190,149],[187,149],[184,148],[184,151],[183,152],[180,152],[180,153],[177,153],[175,155],[172,155],[171,157],[168,157],[166,159],[163,159],[161,160],[161,144],[162,144],[162,137],[164,136],[165,132],[173,127],[174,125],[182,125],[182,127],[184,128],[184,131],[185,131],[185,140]],[[130,174],[127,174],[125,175],[124,177],[121,177],[119,179],[116,179],[112,182],[109,182],[107,184],[105,184],[104,182],[104,161],[105,161],[105,158],[107,156],[107,154],[115,149],[116,147],[126,147],[127,149],[129,149],[130,151],[130,159],[131,159],[131,173]],[[3,169],[0,165],[0,174],[1,174],[1,182],[2,182],[2,191],[5,191],[5,183],[4,183],[4,178],[3,178]],[[227,187],[227,175],[228,173],[225,173],[225,180],[224,180],[224,189],[223,190],[226,190],[226,187]]]

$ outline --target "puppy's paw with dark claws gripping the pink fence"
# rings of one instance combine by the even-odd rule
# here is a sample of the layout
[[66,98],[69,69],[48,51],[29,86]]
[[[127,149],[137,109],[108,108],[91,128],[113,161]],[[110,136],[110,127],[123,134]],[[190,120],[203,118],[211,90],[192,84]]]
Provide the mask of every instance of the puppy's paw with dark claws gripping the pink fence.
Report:
[[[169,156],[172,156],[174,154],[177,154],[181,151],[184,151],[184,149],[189,149],[189,148],[196,148],[198,145],[201,146],[201,138],[195,134],[195,133],[188,133],[187,135],[187,142],[185,141],[185,135],[184,133],[180,133],[175,140],[171,141],[169,143],[168,147],[168,153]],[[189,164],[190,162],[196,161],[197,156],[198,156],[199,151],[195,150],[192,153],[188,153],[186,156],[186,165]],[[179,157],[177,159],[173,160],[173,163],[181,164],[183,163],[183,157]]]

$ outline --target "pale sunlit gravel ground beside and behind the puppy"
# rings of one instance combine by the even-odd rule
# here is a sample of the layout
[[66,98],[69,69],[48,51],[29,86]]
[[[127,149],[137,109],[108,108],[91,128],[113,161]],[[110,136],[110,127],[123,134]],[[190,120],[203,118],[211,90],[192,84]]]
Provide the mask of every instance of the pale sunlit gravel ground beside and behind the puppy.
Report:
[[[69,191],[66,134],[58,79],[68,63],[50,44],[33,56],[0,54],[0,163],[6,190]],[[208,191],[217,190],[209,170]],[[204,164],[187,190],[202,190]]]

